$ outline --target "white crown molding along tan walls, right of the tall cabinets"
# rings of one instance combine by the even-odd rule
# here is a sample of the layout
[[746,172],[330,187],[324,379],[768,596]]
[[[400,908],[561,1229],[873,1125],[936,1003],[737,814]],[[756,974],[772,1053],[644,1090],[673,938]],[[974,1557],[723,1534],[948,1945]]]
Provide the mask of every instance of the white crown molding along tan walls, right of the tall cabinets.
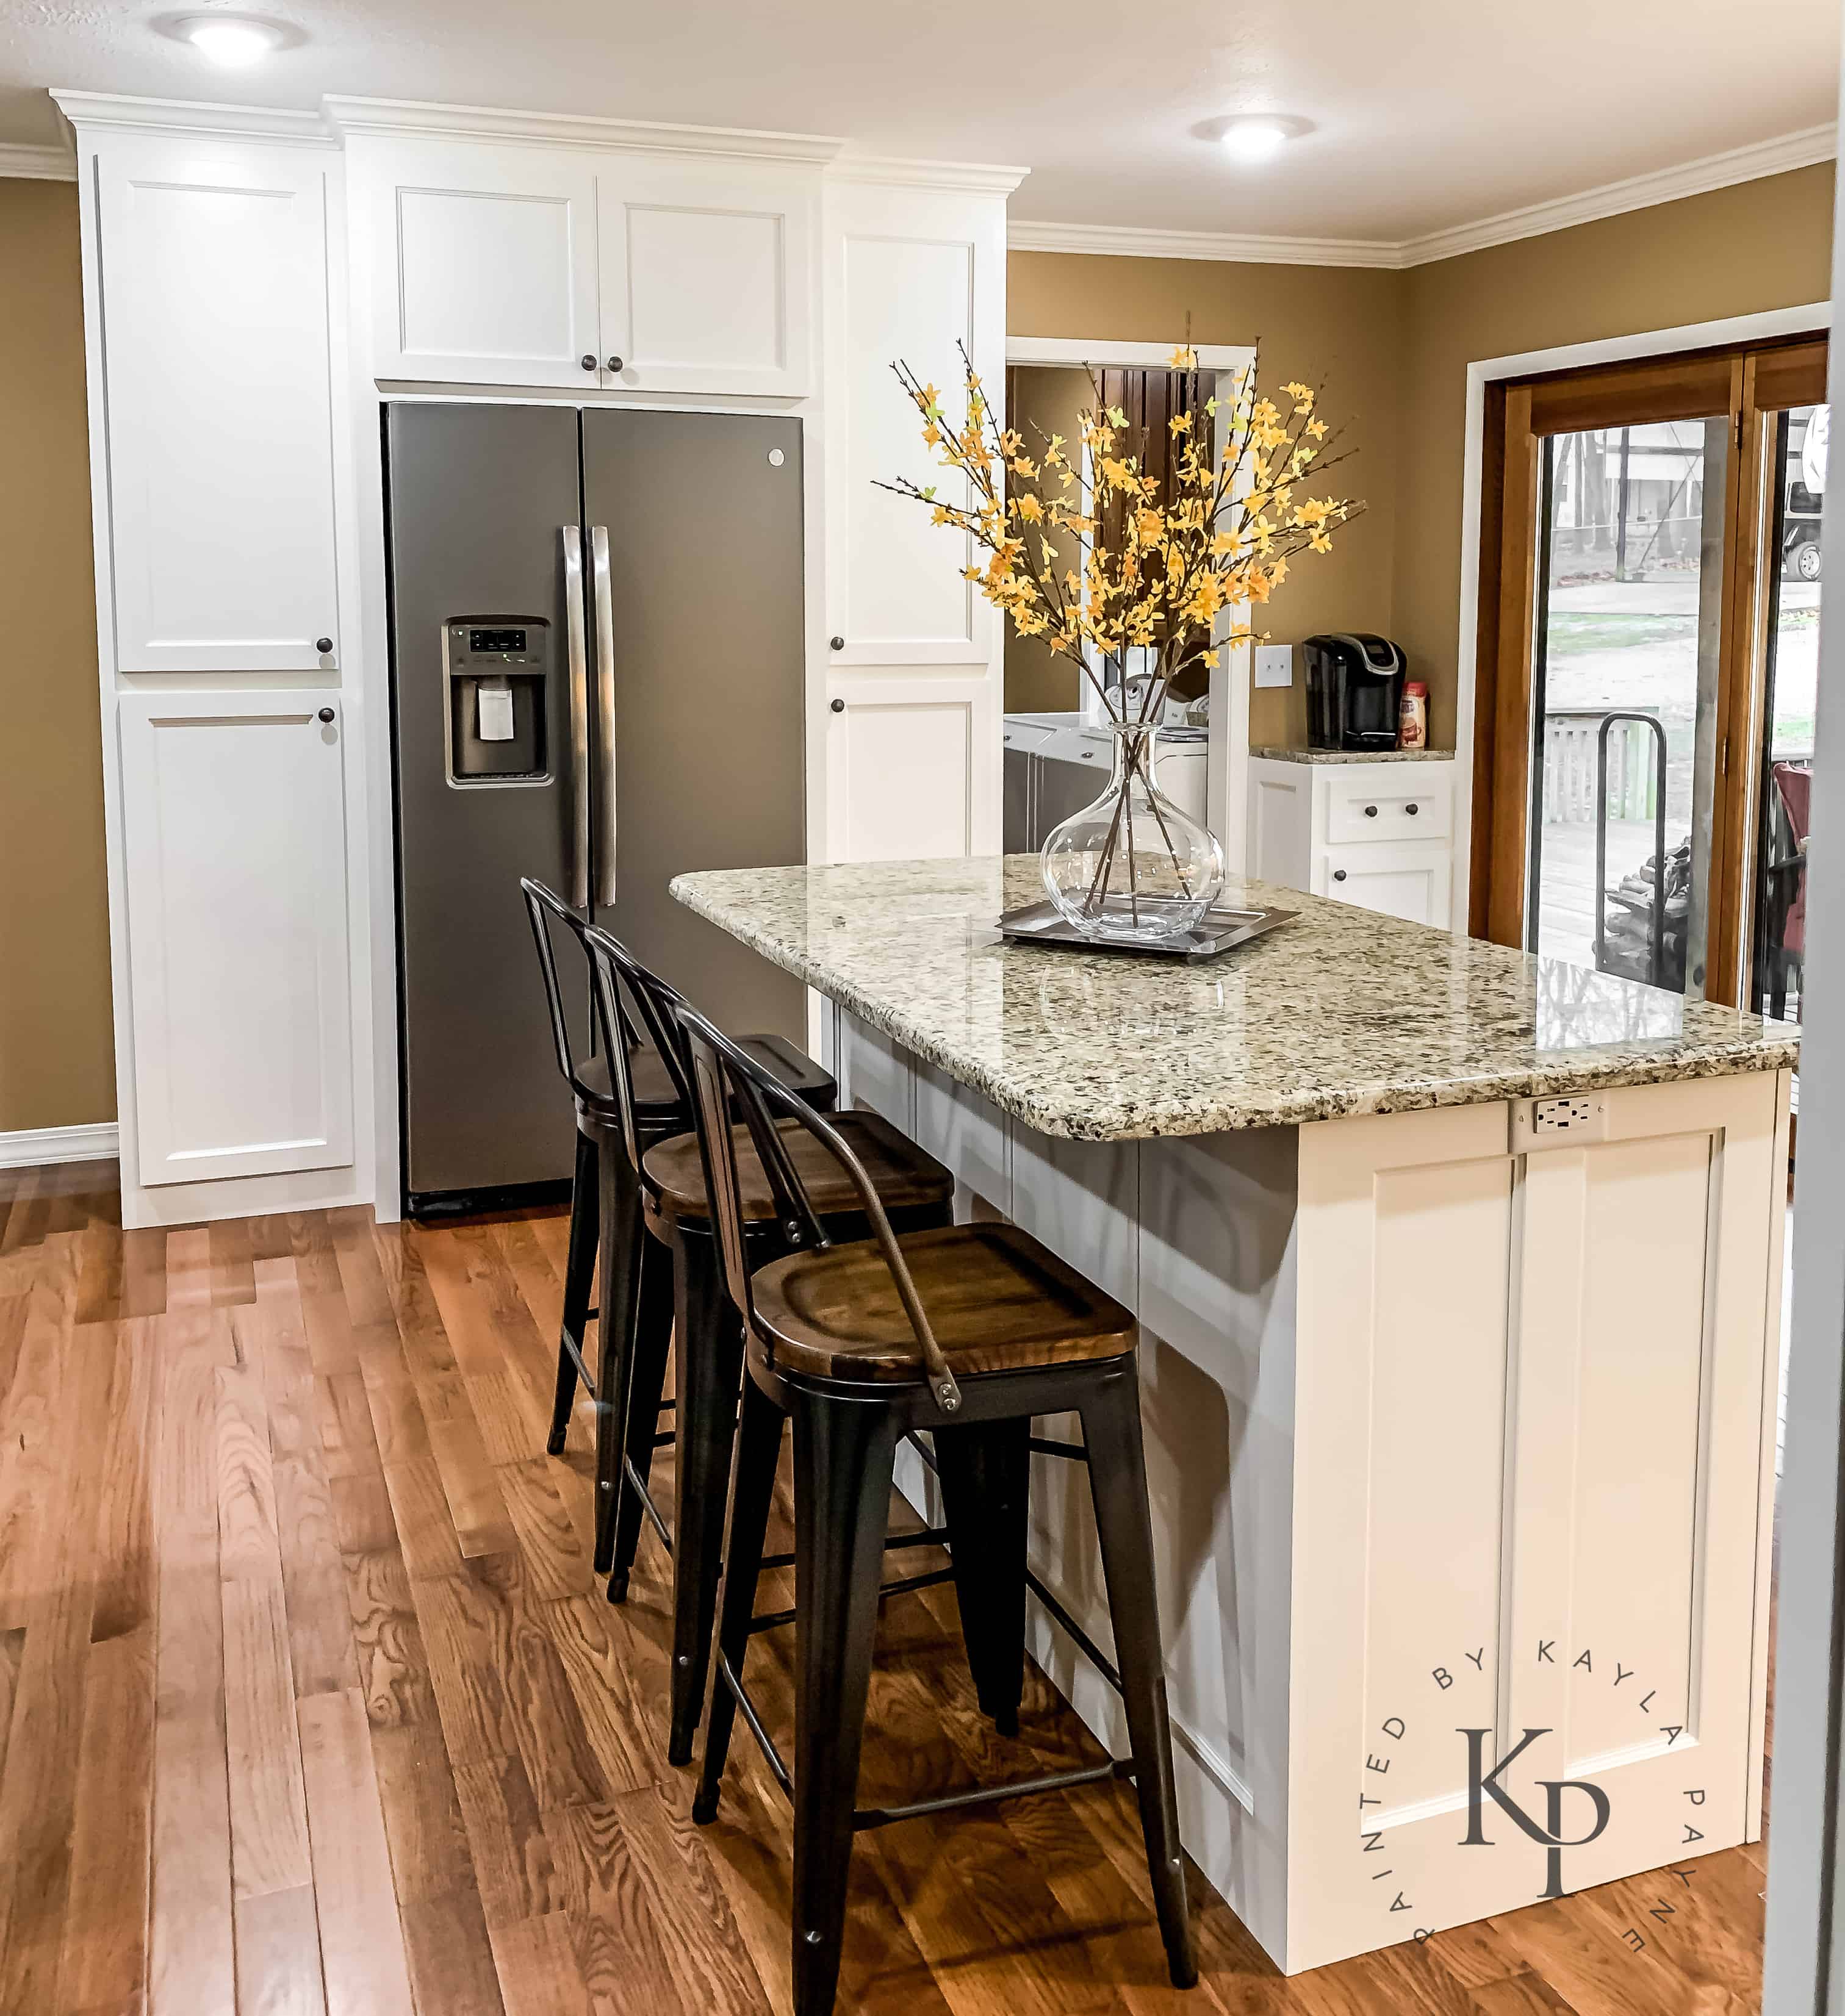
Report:
[[1682,161],[1678,167],[1607,181],[1577,196],[1559,196],[1522,210],[1500,210],[1474,224],[1426,232],[1420,238],[1266,238],[1254,232],[1163,232],[1135,224],[1032,224],[1012,218],[1006,248],[1012,252],[1091,252],[1117,258],[1206,258],[1250,266],[1373,266],[1399,272],[1436,260],[1484,252],[1488,246],[1565,232],[1575,224],[1595,224],[1629,210],[1676,204],[1686,196],[1708,196],[1764,175],[1785,175],[1795,167],[1831,161],[1839,151],[1837,125],[1805,127],[1752,147]]

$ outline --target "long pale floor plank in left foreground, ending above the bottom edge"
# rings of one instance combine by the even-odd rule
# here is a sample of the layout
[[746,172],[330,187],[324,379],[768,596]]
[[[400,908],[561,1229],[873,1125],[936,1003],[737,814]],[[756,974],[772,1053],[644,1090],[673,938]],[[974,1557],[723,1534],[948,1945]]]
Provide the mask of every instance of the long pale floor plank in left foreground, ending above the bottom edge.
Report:
[[288,1603],[260,1373],[218,1373],[218,1562],[224,1605],[224,1742],[238,1897],[313,1881]]

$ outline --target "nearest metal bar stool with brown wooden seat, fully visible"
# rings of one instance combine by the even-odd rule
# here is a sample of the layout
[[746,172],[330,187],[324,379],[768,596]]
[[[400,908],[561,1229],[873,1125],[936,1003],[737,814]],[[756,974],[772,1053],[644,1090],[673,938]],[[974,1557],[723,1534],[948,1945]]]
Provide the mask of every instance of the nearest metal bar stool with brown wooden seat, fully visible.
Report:
[[[835,2004],[855,1833],[1113,1774],[1133,1778],[1139,1794],[1167,1970],[1174,1986],[1190,1988],[1198,1968],[1172,1778],[1133,1316],[1016,1226],[893,1232],[839,1125],[801,1111],[710,1022],[686,1010],[680,1022],[706,1179],[718,1204],[724,1282],[748,1339],[718,1653],[692,1818],[716,1818],[742,1708],[770,1772],[794,1802],[794,2016],[829,2016]],[[732,1109],[742,1111],[744,1129],[732,1129]],[[813,1210],[811,1159],[774,1149],[794,1129],[857,1189],[869,1240],[829,1238]],[[748,1179],[738,1133],[756,1145],[770,1173],[782,1240],[792,1248],[760,1268],[744,1232]],[[1030,1421],[1065,1411],[1083,1421],[1119,1671],[1081,1633],[1077,1643],[1123,1697],[1129,1756],[907,1806],[857,1808],[877,1603],[889,1593],[879,1589],[879,1560],[897,1439],[934,1429],[950,1532],[968,1534],[980,1520],[972,1528],[980,1538],[954,1546],[962,1631],[982,1708],[992,1712],[1008,1691],[1016,1716]],[[794,1609],[756,1617],[786,1417],[794,1421]],[[750,1637],[790,1621],[792,1772],[742,1683]]]

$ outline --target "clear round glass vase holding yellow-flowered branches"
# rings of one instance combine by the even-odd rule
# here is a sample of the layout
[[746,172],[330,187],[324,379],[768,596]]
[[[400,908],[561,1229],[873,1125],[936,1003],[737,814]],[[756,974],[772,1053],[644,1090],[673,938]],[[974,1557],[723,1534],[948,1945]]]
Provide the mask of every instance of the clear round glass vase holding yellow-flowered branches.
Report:
[[1224,849],[1159,790],[1159,728],[1113,722],[1107,788],[1044,841],[1044,889],[1097,937],[1176,937],[1194,929],[1224,887]]

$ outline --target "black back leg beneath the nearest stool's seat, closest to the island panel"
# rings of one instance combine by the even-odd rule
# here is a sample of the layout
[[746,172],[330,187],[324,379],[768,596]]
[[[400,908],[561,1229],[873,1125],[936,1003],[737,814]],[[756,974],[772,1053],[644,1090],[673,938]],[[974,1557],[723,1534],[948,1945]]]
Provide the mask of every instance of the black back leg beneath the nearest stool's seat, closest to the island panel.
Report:
[[1024,1695],[1024,1536],[1030,1421],[936,1429],[954,1593],[980,1712],[1018,1734]]

